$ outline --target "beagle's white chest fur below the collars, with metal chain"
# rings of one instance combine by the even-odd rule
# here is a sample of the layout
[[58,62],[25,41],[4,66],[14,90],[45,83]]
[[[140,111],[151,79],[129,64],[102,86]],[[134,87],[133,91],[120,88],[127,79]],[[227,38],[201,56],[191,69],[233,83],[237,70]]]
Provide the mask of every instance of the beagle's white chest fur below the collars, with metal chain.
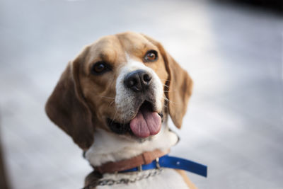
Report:
[[163,168],[159,170],[149,170],[134,173],[105,174],[100,180],[97,189],[108,188],[189,188],[184,182],[182,176],[174,169]]

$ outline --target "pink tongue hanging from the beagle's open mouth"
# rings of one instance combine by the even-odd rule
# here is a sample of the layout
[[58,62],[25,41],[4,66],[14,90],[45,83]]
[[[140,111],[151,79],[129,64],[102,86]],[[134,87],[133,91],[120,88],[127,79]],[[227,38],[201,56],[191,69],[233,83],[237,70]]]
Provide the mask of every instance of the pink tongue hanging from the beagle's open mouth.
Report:
[[137,116],[129,122],[129,127],[137,137],[149,137],[149,135],[157,134],[160,131],[161,117],[158,113],[141,109]]

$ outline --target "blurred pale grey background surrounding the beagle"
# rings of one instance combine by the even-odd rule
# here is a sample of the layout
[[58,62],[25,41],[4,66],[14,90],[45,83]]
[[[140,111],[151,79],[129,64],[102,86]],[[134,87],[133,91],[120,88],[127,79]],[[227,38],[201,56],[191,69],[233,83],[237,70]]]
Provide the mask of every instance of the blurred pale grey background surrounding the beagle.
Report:
[[8,185],[83,186],[92,168],[47,118],[45,101],[83,45],[132,30],[160,41],[195,81],[171,155],[208,166],[207,178],[187,173],[198,188],[282,188],[282,10],[275,0],[1,0],[0,140]]

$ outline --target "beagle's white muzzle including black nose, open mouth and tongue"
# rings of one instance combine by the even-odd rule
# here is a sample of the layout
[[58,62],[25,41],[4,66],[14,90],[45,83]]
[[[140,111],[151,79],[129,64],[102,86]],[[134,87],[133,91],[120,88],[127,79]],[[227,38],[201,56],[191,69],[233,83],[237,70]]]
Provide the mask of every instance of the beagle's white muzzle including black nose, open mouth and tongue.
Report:
[[[161,130],[161,110],[156,108],[159,99],[156,97],[156,81],[154,75],[146,69],[137,69],[125,74],[122,79],[123,88],[120,101],[124,108],[121,122],[107,120],[110,129],[117,134],[129,132],[135,137],[146,138]],[[120,83],[121,84],[121,83]]]

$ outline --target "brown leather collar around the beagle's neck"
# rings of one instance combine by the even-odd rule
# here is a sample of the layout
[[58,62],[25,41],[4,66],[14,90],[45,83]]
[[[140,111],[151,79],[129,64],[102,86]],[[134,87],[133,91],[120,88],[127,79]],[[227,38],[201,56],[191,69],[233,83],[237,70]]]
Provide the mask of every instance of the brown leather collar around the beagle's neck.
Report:
[[161,151],[156,149],[154,151],[145,151],[144,153],[134,156],[131,159],[125,159],[117,162],[108,162],[101,166],[95,166],[95,171],[99,173],[115,173],[117,171],[125,171],[129,168],[135,168],[144,164],[150,164],[155,159],[169,153],[169,149]]

